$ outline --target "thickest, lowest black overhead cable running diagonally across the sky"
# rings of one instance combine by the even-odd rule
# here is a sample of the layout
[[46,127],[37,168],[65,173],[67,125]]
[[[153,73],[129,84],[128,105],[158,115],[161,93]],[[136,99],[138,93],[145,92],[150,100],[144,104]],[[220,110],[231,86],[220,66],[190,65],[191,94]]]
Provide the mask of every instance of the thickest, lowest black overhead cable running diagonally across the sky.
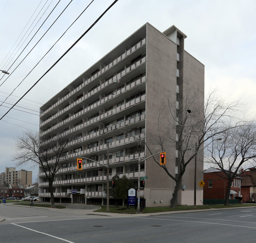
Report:
[[117,2],[118,0],[115,0],[104,12],[103,14],[77,39],[74,44],[68,48],[68,50],[41,76],[40,79],[38,79],[28,90],[23,96],[0,118],[0,120],[9,113],[11,109],[14,108],[18,104],[18,102],[82,39],[86,33],[106,14],[106,12]]

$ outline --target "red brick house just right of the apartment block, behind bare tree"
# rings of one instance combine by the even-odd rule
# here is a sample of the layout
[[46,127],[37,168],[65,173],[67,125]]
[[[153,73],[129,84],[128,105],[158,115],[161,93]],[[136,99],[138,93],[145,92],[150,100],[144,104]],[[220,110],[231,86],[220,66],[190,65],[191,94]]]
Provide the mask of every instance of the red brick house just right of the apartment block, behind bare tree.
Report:
[[[240,196],[241,177],[237,175],[232,182],[229,199]],[[220,169],[209,168],[204,170],[204,199],[225,199],[228,179]]]

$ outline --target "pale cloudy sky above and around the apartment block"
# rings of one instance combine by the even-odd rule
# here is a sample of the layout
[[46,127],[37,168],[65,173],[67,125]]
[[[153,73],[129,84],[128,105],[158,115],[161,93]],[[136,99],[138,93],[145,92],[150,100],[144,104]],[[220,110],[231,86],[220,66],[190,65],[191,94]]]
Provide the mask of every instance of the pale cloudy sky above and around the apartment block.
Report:
[[[0,69],[10,73],[0,74],[0,104],[13,92],[0,106],[1,117],[113,1],[94,0],[30,74],[91,0],[0,1]],[[255,12],[254,0],[119,0],[0,120],[0,172],[15,167],[15,138],[26,129],[39,130],[40,106],[146,22],[161,32],[175,25],[185,33],[185,50],[205,65],[205,92],[216,87],[228,99],[246,99],[245,109],[255,116]],[[35,181],[37,169],[22,168],[33,170]]]

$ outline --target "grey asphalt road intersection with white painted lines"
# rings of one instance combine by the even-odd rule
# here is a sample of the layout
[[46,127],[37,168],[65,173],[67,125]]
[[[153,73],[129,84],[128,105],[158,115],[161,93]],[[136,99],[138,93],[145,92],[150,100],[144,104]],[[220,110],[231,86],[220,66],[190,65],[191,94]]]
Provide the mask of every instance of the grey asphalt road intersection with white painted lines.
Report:
[[256,242],[256,208],[127,217],[0,205],[3,214],[1,242]]

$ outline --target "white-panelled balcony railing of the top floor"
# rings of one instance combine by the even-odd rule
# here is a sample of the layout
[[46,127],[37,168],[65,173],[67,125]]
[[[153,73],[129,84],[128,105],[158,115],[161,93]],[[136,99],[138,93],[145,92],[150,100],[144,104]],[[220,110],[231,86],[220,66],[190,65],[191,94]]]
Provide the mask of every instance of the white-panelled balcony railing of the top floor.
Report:
[[[135,50],[137,50],[138,48],[140,48],[141,46],[143,46],[146,43],[146,38],[142,39],[141,41],[139,41],[137,44],[135,44],[134,46],[132,46],[129,50],[125,51],[124,53],[122,53],[119,57],[117,57],[115,60],[111,61],[110,63],[108,63],[107,65],[105,65],[99,72],[97,72],[96,74],[92,75],[91,77],[89,77],[87,80],[85,80],[81,85],[79,85],[78,87],[76,87],[75,89],[73,89],[72,91],[70,91],[66,96],[64,96],[63,98],[61,98],[58,102],[56,102],[54,105],[50,106],[48,109],[46,109],[44,112],[42,112],[40,114],[40,117],[44,116],[46,113],[48,113],[50,110],[52,110],[53,108],[55,108],[56,106],[58,106],[59,104],[61,104],[63,101],[65,101],[66,99],[68,99],[72,94],[78,92],[81,88],[83,88],[85,85],[87,85],[88,83],[90,83],[91,81],[93,81],[95,78],[97,78],[98,76],[100,76],[101,74],[103,74],[104,72],[106,72],[107,70],[109,70],[110,68],[112,68],[112,66],[114,66],[116,63],[120,62],[122,59],[124,59],[126,56],[130,55],[131,53],[133,53]],[[113,80],[112,80],[113,81]],[[108,83],[109,84],[109,83]]]

